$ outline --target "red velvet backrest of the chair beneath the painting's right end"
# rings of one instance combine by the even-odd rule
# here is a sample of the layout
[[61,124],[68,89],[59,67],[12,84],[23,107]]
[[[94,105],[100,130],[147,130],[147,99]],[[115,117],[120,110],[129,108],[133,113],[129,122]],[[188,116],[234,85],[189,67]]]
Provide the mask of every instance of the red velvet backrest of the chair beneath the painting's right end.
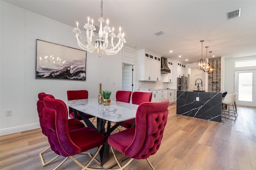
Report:
[[[68,100],[78,100],[78,99],[88,99],[87,90],[68,90],[67,91]],[[68,107],[68,113],[72,113],[73,109]]]

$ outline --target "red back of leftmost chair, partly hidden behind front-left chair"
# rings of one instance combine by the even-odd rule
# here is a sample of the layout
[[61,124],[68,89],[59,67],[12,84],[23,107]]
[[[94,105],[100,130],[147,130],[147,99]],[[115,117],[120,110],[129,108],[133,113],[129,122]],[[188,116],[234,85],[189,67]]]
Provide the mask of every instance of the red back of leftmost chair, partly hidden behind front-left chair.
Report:
[[43,100],[44,100],[44,97],[46,97],[46,96],[51,96],[54,99],[54,97],[52,95],[45,94],[45,93],[39,93],[38,94],[39,100],[36,103],[38,117],[39,117],[39,123],[40,123],[40,127],[42,129],[42,133],[44,135],[46,135],[46,130],[45,130],[44,121],[43,121],[43,108],[44,108]]

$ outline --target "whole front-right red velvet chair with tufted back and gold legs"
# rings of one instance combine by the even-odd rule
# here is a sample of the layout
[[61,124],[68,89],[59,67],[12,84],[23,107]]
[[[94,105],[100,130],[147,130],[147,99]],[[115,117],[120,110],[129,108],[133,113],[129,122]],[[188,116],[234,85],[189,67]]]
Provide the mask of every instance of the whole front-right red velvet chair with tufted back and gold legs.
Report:
[[[148,160],[150,155],[159,149],[164,134],[164,127],[168,119],[169,101],[146,102],[138,106],[136,112],[136,127],[128,128],[108,137],[108,144],[114,154],[120,169],[125,168],[134,159]],[[131,159],[121,166],[114,149]]]

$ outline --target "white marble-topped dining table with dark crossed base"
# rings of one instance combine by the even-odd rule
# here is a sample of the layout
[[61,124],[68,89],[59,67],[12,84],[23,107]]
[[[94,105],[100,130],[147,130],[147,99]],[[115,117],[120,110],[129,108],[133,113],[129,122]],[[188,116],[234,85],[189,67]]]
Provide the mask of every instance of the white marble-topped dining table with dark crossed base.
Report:
[[[105,136],[105,144],[100,150],[100,160],[102,164],[106,163],[109,158],[108,136],[113,132],[123,121],[134,119],[139,105],[131,103],[124,103],[119,101],[112,101],[110,105],[102,105],[98,103],[98,99],[79,99],[64,101],[67,106],[71,107],[74,111],[74,117],[78,119],[78,114],[82,117],[88,127],[92,127],[102,132]],[[97,118],[96,127],[84,115],[92,115]],[[115,123],[111,125],[111,123]],[[107,128],[105,126],[107,125]]]

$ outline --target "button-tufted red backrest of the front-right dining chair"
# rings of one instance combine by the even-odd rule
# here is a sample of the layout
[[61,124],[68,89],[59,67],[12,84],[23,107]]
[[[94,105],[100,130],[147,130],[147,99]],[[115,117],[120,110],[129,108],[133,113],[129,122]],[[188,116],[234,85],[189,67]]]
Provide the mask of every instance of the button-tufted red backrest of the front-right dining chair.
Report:
[[[124,154],[134,159],[146,159],[159,149],[168,118],[169,101],[146,102],[136,112],[135,136]],[[126,130],[124,130],[126,131]]]

